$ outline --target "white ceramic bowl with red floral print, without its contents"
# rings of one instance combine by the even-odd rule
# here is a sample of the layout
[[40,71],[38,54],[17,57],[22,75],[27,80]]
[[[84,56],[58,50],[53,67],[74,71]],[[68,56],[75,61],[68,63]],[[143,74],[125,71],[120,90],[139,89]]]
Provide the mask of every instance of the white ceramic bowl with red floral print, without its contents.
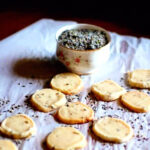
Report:
[[[74,50],[64,47],[59,44],[58,38],[63,31],[70,29],[95,29],[104,31],[106,33],[108,43],[99,49],[93,50]],[[76,74],[90,74],[97,71],[101,65],[104,65],[110,55],[110,35],[105,29],[95,25],[76,24],[64,26],[57,31],[56,40],[56,53],[58,60],[62,62],[68,68],[68,70]]]

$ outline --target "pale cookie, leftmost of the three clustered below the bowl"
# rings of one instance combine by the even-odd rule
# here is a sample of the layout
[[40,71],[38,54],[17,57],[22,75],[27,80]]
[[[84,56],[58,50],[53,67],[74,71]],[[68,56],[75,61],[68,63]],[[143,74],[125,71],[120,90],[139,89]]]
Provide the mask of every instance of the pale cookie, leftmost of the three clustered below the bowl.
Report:
[[36,91],[31,97],[32,105],[39,111],[49,112],[67,102],[63,93],[53,89]]

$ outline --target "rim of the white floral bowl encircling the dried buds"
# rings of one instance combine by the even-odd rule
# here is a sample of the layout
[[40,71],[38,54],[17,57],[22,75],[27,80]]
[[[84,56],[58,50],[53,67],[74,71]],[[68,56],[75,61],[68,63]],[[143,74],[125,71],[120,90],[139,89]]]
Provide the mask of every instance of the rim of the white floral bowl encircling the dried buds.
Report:
[[[100,31],[104,31],[106,33],[106,37],[108,39],[108,43],[100,48],[97,48],[97,49],[88,49],[88,50],[79,50],[79,49],[71,49],[71,48],[67,48],[61,44],[59,44],[58,42],[58,37],[62,34],[63,31],[65,30],[71,30],[71,29],[97,29],[97,30],[100,30]],[[57,41],[57,44],[67,50],[71,50],[71,51],[75,51],[75,52],[92,52],[92,51],[99,51],[101,49],[103,49],[104,47],[106,47],[107,45],[109,45],[111,43],[111,36],[109,34],[109,32],[100,27],[100,26],[96,26],[96,25],[92,25],[92,24],[80,24],[80,23],[77,23],[77,24],[73,24],[73,25],[65,25],[61,28],[59,28],[56,32],[56,41]]]

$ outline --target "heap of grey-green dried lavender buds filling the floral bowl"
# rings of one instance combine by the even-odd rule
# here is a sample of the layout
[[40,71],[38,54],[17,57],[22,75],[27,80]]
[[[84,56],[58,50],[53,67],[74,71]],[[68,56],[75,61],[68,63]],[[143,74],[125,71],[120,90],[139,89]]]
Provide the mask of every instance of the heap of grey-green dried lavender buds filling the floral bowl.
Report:
[[75,50],[98,49],[108,43],[104,31],[93,29],[72,29],[64,31],[58,42],[67,48]]

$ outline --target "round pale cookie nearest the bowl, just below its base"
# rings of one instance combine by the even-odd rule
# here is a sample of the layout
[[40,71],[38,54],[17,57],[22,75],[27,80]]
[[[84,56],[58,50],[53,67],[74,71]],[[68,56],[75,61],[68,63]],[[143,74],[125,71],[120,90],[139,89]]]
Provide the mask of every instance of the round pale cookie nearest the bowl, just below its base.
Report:
[[78,75],[69,72],[54,76],[50,84],[52,88],[68,95],[78,94],[83,88],[81,78]]

